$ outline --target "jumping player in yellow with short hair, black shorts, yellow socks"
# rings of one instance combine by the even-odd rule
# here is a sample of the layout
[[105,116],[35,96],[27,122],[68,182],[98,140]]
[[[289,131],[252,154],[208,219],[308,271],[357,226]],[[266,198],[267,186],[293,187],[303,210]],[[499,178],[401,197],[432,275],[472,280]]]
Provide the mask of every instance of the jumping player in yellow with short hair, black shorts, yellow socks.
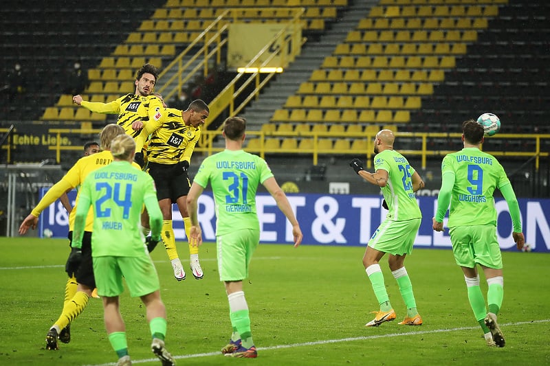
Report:
[[[162,95],[155,94],[164,104]],[[172,223],[172,205],[175,203],[184,220],[186,236],[189,240],[191,227],[187,212],[186,198],[190,188],[188,176],[191,155],[201,135],[201,126],[208,117],[210,109],[202,100],[194,100],[186,111],[166,108],[166,120],[156,130],[147,146],[147,171],[155,180],[157,198],[163,216],[162,240],[172,262],[174,276],[178,281],[185,279],[184,267],[177,254]],[[144,234],[148,232],[148,217],[142,216]],[[199,263],[199,247],[189,242],[190,268],[195,279],[203,278]]]

